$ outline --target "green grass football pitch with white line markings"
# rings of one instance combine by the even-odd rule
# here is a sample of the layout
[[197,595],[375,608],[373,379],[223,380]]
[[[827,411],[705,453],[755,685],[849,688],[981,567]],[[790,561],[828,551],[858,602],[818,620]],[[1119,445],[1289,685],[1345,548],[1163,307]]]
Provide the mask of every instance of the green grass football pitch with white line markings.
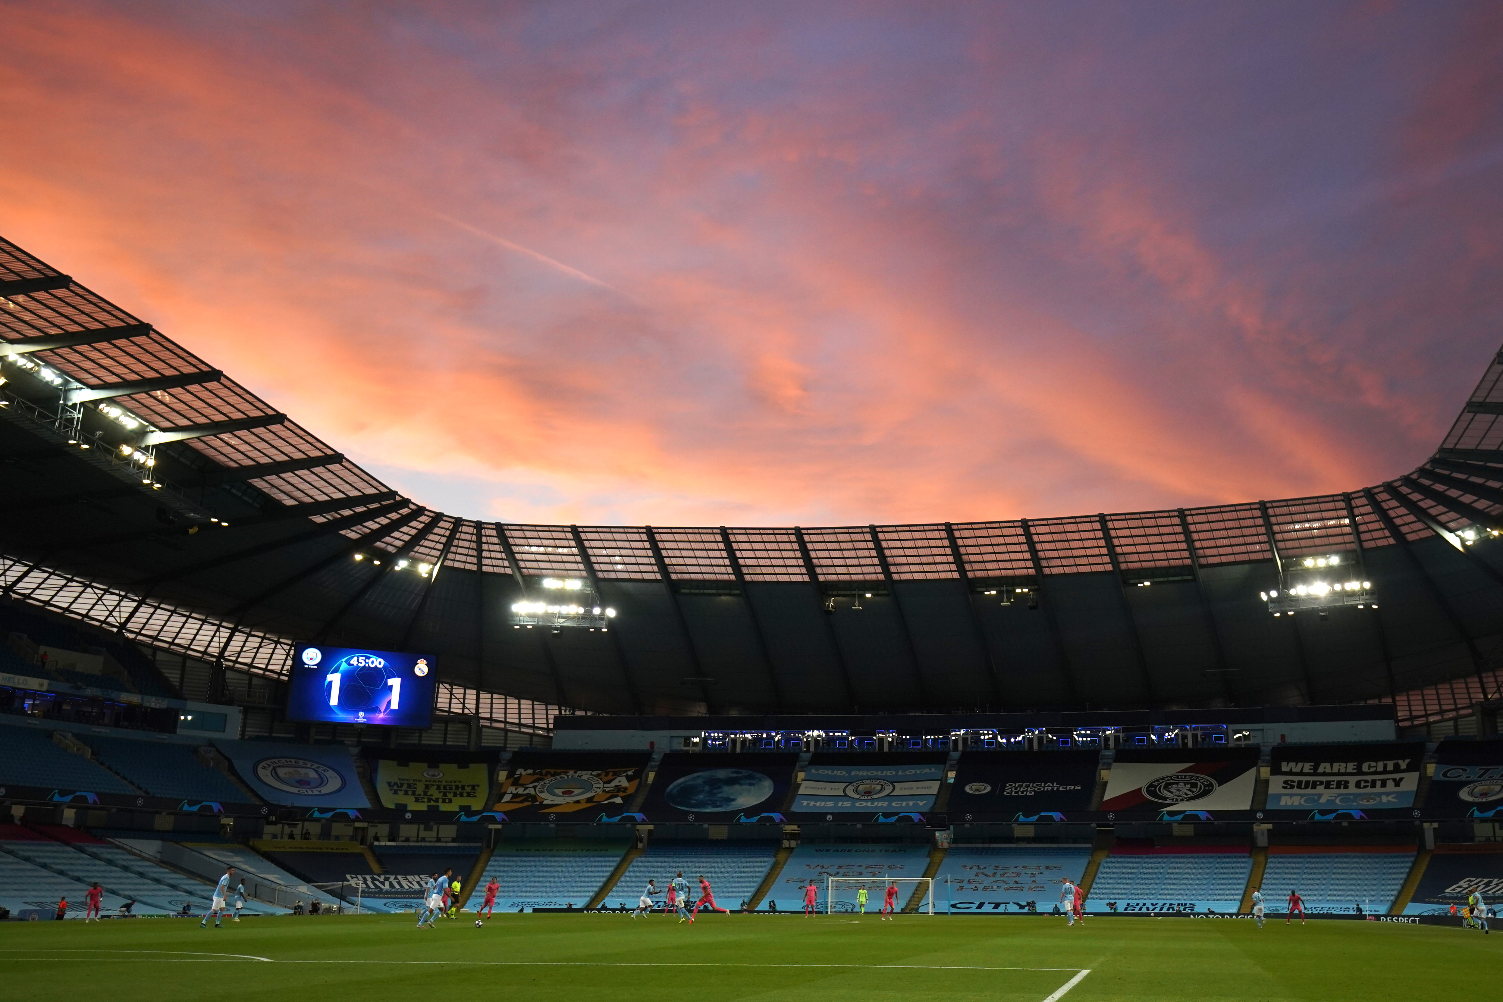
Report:
[[[213,957],[206,954],[242,954]],[[272,963],[253,960],[266,957]],[[688,966],[681,966],[688,964]],[[407,916],[248,918],[0,927],[0,999],[672,997],[840,1002],[1423,999],[1485,990],[1498,939],[1461,928],[1312,921],[1096,918]],[[1018,970],[1016,967],[1054,967]]]

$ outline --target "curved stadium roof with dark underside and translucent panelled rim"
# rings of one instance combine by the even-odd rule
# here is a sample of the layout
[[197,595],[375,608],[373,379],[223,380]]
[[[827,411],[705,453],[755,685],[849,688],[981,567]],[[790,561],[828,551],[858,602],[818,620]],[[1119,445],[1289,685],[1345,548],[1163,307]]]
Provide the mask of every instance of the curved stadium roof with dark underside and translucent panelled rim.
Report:
[[[622,714],[1333,703],[1498,682],[1503,353],[1434,457],[1341,494],[655,527],[425,508],[3,240],[0,338],[0,593],[207,661],[281,675],[293,640],[421,649],[461,702]],[[1273,617],[1260,590],[1330,554],[1377,605]],[[544,578],[619,616],[514,628]]]

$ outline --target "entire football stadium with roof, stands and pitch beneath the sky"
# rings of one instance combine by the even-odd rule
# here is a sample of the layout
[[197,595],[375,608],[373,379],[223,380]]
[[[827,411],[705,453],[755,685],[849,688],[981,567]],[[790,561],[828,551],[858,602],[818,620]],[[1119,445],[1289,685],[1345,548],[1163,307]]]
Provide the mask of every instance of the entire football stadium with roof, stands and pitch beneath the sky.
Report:
[[1339,493],[529,524],[388,485],[11,236],[20,991],[1365,999],[1491,963],[1503,349]]

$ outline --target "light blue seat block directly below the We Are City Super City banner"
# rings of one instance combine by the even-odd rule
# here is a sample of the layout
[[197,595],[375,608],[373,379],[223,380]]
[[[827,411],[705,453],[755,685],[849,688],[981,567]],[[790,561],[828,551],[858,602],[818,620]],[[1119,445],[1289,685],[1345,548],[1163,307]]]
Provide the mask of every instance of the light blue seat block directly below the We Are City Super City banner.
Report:
[[1413,864],[1414,846],[1270,846],[1263,895],[1270,912],[1299,891],[1306,912],[1383,915]]

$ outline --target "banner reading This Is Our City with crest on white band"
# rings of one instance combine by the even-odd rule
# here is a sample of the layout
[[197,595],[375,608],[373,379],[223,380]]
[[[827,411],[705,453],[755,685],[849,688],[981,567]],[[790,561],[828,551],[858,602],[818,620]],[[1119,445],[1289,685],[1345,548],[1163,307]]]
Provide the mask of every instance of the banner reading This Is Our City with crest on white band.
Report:
[[[945,753],[815,753],[794,796],[794,813],[836,820],[923,820],[944,780]],[[854,820],[842,817],[840,820]]]

